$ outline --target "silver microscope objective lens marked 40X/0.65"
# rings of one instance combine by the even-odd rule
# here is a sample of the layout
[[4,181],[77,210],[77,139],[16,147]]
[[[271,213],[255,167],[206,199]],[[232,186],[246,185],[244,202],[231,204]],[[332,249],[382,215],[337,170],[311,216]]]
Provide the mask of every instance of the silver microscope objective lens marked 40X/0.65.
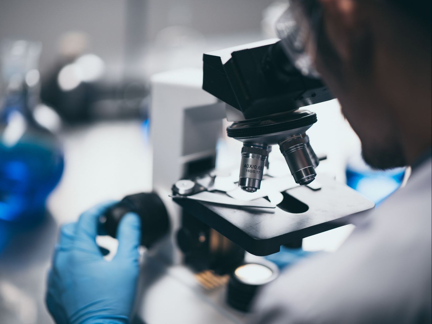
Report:
[[238,185],[242,190],[255,192],[260,188],[267,156],[267,145],[259,143],[243,144],[240,178],[238,179]]

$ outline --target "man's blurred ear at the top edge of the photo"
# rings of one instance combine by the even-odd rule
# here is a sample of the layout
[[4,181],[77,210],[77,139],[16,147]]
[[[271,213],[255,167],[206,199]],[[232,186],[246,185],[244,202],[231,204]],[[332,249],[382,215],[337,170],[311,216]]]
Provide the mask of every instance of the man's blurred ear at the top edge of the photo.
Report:
[[323,8],[323,28],[339,60],[347,63],[359,53],[358,38],[365,32],[356,0],[319,0]]

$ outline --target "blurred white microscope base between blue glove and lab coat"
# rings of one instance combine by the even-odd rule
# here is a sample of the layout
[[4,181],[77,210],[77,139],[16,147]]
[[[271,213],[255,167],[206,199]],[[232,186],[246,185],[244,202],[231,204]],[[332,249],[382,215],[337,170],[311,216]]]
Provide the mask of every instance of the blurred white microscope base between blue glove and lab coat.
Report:
[[141,270],[138,316],[146,324],[244,324],[247,314],[226,302],[226,285],[206,290],[184,265],[167,265],[145,256]]

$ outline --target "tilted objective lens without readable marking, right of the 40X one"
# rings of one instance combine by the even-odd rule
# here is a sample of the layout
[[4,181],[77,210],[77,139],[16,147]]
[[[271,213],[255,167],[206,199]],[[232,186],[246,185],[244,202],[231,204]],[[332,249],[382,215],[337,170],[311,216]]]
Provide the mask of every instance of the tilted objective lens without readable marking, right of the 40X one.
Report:
[[279,148],[296,183],[304,185],[314,181],[317,174],[301,134],[286,138],[279,143]]

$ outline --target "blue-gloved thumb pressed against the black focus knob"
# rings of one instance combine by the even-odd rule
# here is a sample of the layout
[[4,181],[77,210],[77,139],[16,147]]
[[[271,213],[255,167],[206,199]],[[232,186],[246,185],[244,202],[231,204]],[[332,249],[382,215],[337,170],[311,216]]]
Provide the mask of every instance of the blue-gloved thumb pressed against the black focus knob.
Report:
[[117,229],[118,250],[115,258],[138,260],[141,240],[141,220],[136,213],[123,216]]

